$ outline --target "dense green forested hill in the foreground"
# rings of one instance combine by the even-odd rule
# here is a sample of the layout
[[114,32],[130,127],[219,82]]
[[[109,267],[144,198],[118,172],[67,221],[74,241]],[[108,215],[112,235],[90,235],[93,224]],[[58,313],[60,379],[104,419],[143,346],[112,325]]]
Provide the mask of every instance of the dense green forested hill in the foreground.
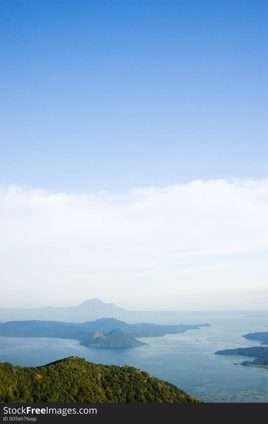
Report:
[[0,363],[0,402],[199,401],[140,369],[69,357],[34,368]]

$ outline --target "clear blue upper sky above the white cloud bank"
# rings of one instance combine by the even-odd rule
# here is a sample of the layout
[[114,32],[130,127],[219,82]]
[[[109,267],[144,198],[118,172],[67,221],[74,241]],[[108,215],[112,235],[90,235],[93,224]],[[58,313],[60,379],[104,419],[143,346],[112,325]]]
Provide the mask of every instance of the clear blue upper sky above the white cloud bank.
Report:
[[267,175],[266,1],[0,1],[0,184]]

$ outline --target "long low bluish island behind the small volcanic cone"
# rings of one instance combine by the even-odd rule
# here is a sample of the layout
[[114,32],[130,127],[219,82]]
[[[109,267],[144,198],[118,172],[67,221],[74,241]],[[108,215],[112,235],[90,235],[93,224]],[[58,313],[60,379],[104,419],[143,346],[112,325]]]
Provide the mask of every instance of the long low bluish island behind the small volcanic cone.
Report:
[[[82,340],[87,344],[96,332],[111,332],[121,329],[131,337],[154,337],[166,334],[183,333],[186,330],[198,329],[200,325],[156,325],[149,323],[127,324],[114,318],[100,318],[84,323],[67,323],[59,321],[9,321],[0,323],[0,336],[6,337],[58,337]],[[139,344],[139,343],[138,343]],[[112,346],[111,346],[112,347]]]

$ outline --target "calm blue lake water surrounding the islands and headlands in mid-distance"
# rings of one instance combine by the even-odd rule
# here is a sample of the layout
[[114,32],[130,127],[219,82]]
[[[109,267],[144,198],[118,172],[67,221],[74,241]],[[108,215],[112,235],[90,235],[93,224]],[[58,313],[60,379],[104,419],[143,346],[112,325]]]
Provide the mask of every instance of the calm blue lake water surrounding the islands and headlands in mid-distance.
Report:
[[[268,368],[233,365],[245,356],[221,356],[221,349],[260,346],[241,335],[268,331],[268,318],[187,316],[162,324],[212,324],[181,334],[142,338],[148,346],[105,349],[80,346],[78,340],[0,337],[0,362],[39,366],[68,357],[94,363],[132,365],[169,381],[206,402],[268,402]],[[252,360],[254,358],[251,358]],[[249,359],[250,360],[250,359]]]

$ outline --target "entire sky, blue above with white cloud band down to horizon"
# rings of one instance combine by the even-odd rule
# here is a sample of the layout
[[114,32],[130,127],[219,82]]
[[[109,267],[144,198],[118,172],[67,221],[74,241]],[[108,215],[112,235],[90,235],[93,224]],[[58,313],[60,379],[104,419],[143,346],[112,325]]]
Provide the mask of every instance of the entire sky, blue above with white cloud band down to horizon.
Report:
[[0,306],[267,309],[268,3],[0,9]]

